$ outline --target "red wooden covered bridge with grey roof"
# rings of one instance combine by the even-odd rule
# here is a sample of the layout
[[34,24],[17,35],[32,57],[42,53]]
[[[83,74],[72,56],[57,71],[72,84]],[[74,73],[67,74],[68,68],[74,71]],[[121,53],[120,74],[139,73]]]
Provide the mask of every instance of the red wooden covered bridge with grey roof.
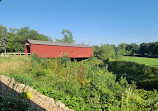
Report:
[[26,40],[25,53],[37,53],[39,57],[57,58],[67,54],[69,58],[89,58],[92,47],[85,44],[58,43],[42,40]]

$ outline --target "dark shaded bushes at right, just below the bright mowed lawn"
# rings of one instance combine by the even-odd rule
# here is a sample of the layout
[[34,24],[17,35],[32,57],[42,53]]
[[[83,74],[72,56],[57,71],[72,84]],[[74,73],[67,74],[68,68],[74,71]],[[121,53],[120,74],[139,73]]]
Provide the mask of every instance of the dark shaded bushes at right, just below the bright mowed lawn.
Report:
[[139,88],[147,90],[158,88],[158,68],[156,67],[126,61],[113,61],[108,66],[108,70],[117,74],[118,78],[125,76],[129,82],[135,80]]

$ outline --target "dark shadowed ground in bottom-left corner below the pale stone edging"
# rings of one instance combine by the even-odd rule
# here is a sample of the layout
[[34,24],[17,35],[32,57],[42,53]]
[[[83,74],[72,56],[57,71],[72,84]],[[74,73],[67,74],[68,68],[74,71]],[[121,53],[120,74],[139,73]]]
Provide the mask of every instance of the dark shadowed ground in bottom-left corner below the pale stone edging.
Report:
[[[9,84],[11,81],[9,82]],[[20,94],[14,90],[16,85],[13,84],[13,89],[0,81],[0,110],[7,111],[46,111],[44,108],[34,103],[30,99],[20,98]]]

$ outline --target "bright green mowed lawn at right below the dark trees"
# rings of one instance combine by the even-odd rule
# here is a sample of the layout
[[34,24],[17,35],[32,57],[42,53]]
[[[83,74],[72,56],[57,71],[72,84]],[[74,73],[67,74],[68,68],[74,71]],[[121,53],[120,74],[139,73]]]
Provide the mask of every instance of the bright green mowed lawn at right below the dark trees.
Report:
[[123,56],[122,59],[124,61],[131,61],[131,62],[136,62],[139,64],[145,64],[147,66],[158,67],[158,58]]

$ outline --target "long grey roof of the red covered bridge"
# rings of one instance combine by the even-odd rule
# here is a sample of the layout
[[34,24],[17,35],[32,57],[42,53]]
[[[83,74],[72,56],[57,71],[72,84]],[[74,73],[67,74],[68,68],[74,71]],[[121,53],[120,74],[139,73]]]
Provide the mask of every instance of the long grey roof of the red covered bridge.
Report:
[[51,41],[30,40],[30,39],[27,39],[27,41],[30,44],[56,45],[56,46],[69,46],[69,47],[91,47],[86,44],[73,44],[73,43],[51,42]]

